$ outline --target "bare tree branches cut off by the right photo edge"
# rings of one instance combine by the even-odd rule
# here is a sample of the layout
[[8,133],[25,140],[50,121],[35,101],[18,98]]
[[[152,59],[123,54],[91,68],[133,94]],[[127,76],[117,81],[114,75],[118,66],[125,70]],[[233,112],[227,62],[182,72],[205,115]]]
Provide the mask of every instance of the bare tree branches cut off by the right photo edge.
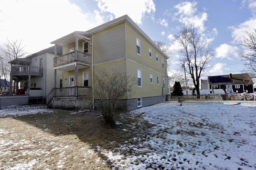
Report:
[[254,31],[246,31],[246,36],[239,42],[240,45],[246,48],[243,53],[240,53],[242,60],[248,61],[244,72],[250,74],[251,77],[256,78],[256,28]]

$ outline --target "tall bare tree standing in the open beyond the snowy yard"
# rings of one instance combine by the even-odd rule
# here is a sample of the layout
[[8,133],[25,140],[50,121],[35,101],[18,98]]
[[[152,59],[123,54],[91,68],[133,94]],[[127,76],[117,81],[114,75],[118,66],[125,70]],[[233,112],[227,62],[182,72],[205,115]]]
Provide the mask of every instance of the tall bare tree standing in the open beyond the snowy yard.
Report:
[[202,39],[199,29],[191,24],[186,25],[177,35],[174,35],[174,40],[182,46],[179,50],[180,61],[185,62],[186,72],[192,78],[199,96],[202,70],[210,68],[210,59],[216,53]]

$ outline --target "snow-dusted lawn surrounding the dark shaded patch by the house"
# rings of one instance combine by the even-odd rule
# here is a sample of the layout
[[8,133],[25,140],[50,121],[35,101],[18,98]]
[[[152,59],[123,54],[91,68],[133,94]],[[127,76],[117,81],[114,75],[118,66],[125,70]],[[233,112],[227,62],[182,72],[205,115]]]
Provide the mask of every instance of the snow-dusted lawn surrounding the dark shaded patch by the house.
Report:
[[[198,109],[200,108],[200,109]],[[73,145],[80,145],[76,154],[83,158],[93,156],[95,162],[111,164],[113,170],[153,170],[153,169],[206,169],[206,170],[255,170],[256,168],[256,102],[255,101],[210,101],[210,102],[165,102],[154,106],[142,107],[129,113],[129,119],[136,119],[130,127],[122,127],[122,117],[117,123],[123,131],[136,133],[136,137],[120,143],[116,148],[85,149],[88,143],[65,143],[57,145],[56,141],[67,140],[73,135],[56,135],[48,125],[27,128],[35,132],[28,137],[0,126],[0,155],[2,168],[13,169],[54,169],[66,168],[67,164],[77,164],[76,158],[69,159],[74,151]],[[56,110],[55,110],[56,111]],[[0,117],[16,117],[26,114],[51,114],[53,111],[45,106],[16,106],[0,109]],[[72,113],[73,112],[73,113]],[[76,114],[76,111],[70,113]],[[61,114],[61,113],[60,113]],[[31,117],[35,119],[34,117]],[[12,122],[20,119],[11,119]],[[1,123],[6,124],[7,119]],[[21,121],[21,120],[20,120]],[[152,124],[147,130],[140,129],[145,122]],[[66,121],[68,127],[70,122]],[[18,123],[17,123],[18,124]],[[138,128],[138,129],[137,129]],[[36,129],[36,130],[34,130]],[[27,130],[28,131],[28,130]],[[26,130],[22,133],[27,133]],[[44,135],[49,133],[50,135]],[[10,139],[8,138],[10,136]],[[18,136],[18,137],[17,137]],[[48,147],[38,149],[38,137],[49,141]],[[12,140],[15,139],[15,140]],[[16,140],[18,139],[18,140]],[[36,142],[37,141],[37,142]],[[115,143],[116,141],[111,141]],[[108,145],[108,143],[106,143]],[[20,146],[18,148],[18,146]],[[12,148],[16,157],[8,159]],[[50,148],[50,149],[49,149]],[[22,150],[24,149],[24,150]],[[57,153],[57,154],[56,154]],[[38,158],[31,159],[30,155]],[[46,161],[49,159],[51,161]],[[23,159],[22,159],[23,158]],[[29,159],[30,158],[30,159]],[[84,160],[84,159],[82,159]],[[57,163],[58,162],[58,163]],[[90,160],[87,164],[94,164]],[[80,165],[80,164],[78,164]],[[47,167],[47,168],[46,168]]]

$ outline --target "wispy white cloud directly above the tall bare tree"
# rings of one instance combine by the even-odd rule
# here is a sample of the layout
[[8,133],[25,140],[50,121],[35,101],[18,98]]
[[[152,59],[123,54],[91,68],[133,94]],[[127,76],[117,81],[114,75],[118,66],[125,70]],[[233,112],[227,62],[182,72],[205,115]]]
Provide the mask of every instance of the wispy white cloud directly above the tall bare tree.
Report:
[[174,16],[181,23],[186,25],[194,24],[195,27],[198,27],[203,32],[205,30],[204,21],[207,21],[208,14],[205,12],[197,13],[196,4],[196,2],[182,2],[174,6],[178,10]]

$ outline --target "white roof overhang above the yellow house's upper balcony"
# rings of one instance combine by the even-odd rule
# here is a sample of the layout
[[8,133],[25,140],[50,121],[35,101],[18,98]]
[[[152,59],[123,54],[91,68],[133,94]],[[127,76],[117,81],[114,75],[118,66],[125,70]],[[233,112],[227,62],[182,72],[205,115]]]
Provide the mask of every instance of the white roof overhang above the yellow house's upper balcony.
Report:
[[64,37],[61,37],[59,39],[56,39],[55,41],[52,41],[51,44],[63,46],[63,45],[75,42],[76,37],[78,37],[78,40],[86,39],[87,41],[90,41],[90,38],[86,37],[88,35],[90,34],[87,31],[74,31],[73,33],[70,33],[68,35],[65,35]]

